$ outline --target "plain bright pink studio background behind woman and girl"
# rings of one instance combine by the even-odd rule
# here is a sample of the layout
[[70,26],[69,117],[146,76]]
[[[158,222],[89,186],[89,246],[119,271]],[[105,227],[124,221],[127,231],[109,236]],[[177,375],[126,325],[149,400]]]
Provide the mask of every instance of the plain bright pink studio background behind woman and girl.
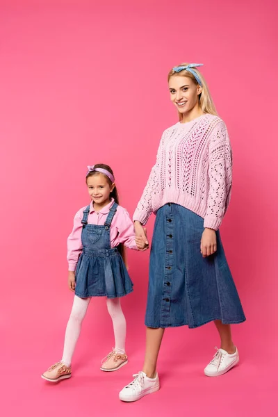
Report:
[[[274,0],[0,2],[2,416],[275,415],[276,19]],[[161,133],[177,122],[167,72],[184,61],[205,64],[234,150],[222,240],[247,316],[234,326],[241,365],[204,377],[219,345],[213,324],[168,329],[161,391],[117,399],[145,350],[149,253],[129,251],[129,365],[99,370],[113,332],[104,300],[94,299],[74,377],[46,384],[40,374],[61,357],[72,306],[66,239],[88,203],[86,165],[111,164],[132,215]]]

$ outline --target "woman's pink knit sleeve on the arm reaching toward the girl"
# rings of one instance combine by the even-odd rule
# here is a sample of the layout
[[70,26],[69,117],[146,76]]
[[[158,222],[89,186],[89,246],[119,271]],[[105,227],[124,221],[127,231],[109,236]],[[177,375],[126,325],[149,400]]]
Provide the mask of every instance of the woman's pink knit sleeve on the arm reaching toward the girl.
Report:
[[147,185],[144,188],[142,197],[133,214],[133,222],[138,220],[138,222],[145,225],[149,220],[149,216],[152,214],[152,195],[156,193],[157,186],[159,186],[158,176],[161,174],[161,151],[164,139],[165,131],[163,132],[161,142],[159,143],[158,152],[156,154],[156,163],[152,167],[149,179],[147,180]]

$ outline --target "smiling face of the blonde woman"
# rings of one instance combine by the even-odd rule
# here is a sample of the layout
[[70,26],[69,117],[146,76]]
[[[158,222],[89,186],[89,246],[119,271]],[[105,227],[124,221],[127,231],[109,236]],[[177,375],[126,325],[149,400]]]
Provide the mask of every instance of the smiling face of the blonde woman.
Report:
[[170,98],[179,113],[186,114],[199,107],[201,85],[196,85],[188,76],[173,75],[169,80]]

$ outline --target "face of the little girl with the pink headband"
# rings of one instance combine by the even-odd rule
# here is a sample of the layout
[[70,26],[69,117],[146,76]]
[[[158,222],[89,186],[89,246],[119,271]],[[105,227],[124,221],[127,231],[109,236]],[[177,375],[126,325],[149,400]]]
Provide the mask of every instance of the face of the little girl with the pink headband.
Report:
[[87,186],[93,202],[106,204],[110,201],[110,193],[113,191],[115,183],[110,186],[107,177],[100,172],[88,177]]

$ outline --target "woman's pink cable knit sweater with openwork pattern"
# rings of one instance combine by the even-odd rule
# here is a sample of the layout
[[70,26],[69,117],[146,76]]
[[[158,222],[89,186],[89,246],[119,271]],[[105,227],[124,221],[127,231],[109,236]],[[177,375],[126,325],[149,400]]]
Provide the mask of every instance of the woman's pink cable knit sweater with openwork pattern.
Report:
[[146,224],[166,203],[180,204],[218,230],[231,198],[232,155],[227,127],[205,114],[163,132],[156,164],[133,220]]

